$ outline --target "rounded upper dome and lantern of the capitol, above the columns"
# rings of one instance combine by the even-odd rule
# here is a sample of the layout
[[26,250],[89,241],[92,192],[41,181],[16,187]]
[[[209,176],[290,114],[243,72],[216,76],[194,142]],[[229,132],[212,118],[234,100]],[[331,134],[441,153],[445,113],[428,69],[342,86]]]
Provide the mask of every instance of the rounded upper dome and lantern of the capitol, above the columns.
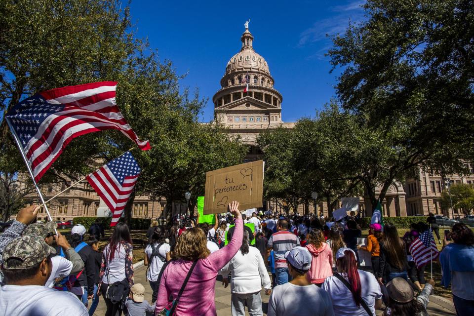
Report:
[[253,50],[253,36],[248,29],[242,34],[241,41],[242,48],[227,63],[226,75],[236,71],[257,71],[270,75],[267,61]]

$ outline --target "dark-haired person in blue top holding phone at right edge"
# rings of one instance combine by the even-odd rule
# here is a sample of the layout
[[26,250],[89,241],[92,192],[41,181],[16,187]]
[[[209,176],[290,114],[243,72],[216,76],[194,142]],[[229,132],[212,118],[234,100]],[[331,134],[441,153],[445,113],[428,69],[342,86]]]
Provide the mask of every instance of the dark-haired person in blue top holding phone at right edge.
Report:
[[474,315],[474,233],[466,224],[454,224],[450,234],[444,235],[439,262],[441,285],[447,288],[451,283],[457,315]]

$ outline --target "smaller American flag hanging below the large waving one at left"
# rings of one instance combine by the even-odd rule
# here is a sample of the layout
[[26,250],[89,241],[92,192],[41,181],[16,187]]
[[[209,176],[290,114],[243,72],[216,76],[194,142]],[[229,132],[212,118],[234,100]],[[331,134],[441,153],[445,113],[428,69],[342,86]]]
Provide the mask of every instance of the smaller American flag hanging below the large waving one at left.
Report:
[[86,177],[112,212],[110,226],[117,225],[140,175],[140,166],[130,152],[115,158]]

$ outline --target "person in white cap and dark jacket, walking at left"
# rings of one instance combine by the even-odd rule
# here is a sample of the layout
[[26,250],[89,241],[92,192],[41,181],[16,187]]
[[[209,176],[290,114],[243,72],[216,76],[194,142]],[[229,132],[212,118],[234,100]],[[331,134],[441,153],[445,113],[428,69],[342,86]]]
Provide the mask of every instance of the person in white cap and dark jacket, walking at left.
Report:
[[84,262],[84,270],[80,275],[69,276],[69,278],[75,279],[71,292],[76,294],[87,307],[88,300],[94,296],[95,275],[99,274],[99,270],[95,264],[94,249],[84,242],[86,232],[87,230],[81,224],[74,225],[71,229],[70,243]]

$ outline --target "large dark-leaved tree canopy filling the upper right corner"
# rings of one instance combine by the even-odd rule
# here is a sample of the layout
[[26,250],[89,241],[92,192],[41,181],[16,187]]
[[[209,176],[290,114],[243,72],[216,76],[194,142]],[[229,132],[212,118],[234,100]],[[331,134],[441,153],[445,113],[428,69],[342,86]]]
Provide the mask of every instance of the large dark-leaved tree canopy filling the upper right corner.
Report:
[[[458,169],[473,158],[474,2],[368,0],[365,19],[329,50],[345,109],[362,115],[411,161]],[[454,161],[456,160],[456,161]],[[462,167],[462,166],[461,166]],[[465,171],[465,170],[464,170]]]

